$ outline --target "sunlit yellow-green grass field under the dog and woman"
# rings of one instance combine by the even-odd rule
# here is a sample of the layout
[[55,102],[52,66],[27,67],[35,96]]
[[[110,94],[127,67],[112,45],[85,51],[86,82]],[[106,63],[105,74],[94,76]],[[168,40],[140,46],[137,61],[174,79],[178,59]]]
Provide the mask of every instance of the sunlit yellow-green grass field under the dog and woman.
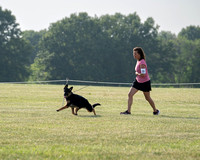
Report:
[[[74,86],[78,90],[81,86]],[[63,85],[0,84],[0,159],[200,159],[200,89],[153,88],[159,116],[141,92],[132,115],[128,87],[76,92],[96,107],[78,116],[62,106]]]

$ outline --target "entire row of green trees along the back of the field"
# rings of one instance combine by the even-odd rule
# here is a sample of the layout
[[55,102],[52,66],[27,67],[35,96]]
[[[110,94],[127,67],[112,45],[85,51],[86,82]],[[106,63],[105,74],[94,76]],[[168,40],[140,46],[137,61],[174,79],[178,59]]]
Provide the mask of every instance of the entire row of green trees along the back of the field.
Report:
[[178,35],[159,32],[153,18],[137,13],[91,17],[71,14],[46,30],[21,31],[0,7],[0,81],[134,80],[133,48],[140,46],[153,82],[200,82],[200,27]]

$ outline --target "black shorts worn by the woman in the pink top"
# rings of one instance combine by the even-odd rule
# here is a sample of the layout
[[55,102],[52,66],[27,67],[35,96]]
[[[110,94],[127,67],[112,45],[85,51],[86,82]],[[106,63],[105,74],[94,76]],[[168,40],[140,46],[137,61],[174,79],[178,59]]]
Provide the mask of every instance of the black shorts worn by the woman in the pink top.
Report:
[[143,92],[149,92],[149,91],[151,91],[151,81],[149,80],[149,81],[144,82],[144,83],[139,83],[135,79],[135,81],[133,82],[132,87],[135,88],[135,89],[138,89],[140,91],[143,91]]

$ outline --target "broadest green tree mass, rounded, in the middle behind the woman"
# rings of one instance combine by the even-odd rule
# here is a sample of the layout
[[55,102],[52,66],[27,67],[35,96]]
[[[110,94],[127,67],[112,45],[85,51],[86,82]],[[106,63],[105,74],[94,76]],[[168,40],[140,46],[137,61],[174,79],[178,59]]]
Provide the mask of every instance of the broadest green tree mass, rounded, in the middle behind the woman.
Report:
[[[42,78],[34,75],[43,72],[50,79],[69,76],[130,82],[135,76],[133,47],[144,47],[150,54],[150,63],[158,53],[157,30],[152,18],[141,23],[136,13],[128,16],[116,13],[100,18],[92,18],[87,13],[72,14],[52,24],[43,36],[40,54],[32,65],[38,74],[33,73],[32,77]],[[154,63],[150,64],[154,67]]]

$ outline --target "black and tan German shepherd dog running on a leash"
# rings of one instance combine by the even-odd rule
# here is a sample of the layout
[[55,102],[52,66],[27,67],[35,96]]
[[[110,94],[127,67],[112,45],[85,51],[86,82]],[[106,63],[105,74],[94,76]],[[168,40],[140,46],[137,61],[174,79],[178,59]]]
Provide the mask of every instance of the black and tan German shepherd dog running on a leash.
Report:
[[64,97],[66,99],[67,104],[64,107],[61,107],[60,109],[56,110],[57,112],[71,107],[72,114],[78,115],[77,112],[81,108],[85,108],[88,110],[88,112],[93,112],[94,115],[96,115],[96,112],[94,110],[94,107],[101,105],[99,103],[95,103],[91,105],[87,99],[85,99],[82,96],[79,96],[77,94],[72,93],[73,87],[68,88],[68,85],[65,85],[64,87]]

